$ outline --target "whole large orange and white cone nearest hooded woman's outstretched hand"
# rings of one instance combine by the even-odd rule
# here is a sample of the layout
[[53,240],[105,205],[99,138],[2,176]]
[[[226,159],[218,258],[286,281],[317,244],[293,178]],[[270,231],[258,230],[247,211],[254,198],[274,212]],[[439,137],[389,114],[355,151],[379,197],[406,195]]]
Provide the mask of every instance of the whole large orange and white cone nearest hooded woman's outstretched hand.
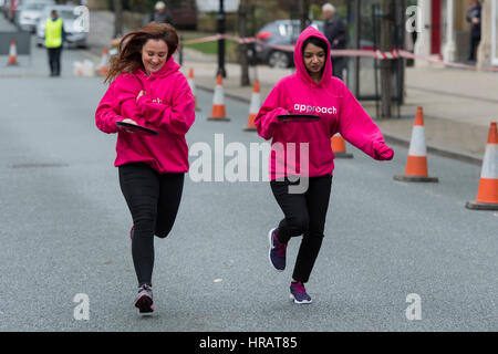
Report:
[[425,145],[424,112],[422,107],[417,108],[415,116],[405,174],[394,176],[394,179],[403,181],[439,181],[437,177],[429,177],[427,174],[427,148]]

